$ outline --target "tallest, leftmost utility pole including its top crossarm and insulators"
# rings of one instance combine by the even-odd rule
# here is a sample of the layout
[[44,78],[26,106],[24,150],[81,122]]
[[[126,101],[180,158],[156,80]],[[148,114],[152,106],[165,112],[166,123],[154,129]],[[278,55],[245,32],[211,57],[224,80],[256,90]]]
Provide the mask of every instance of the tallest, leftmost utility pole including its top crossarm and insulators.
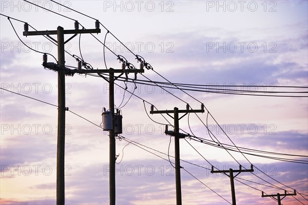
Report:
[[[98,22],[98,21],[97,21]],[[65,111],[68,108],[65,107],[65,50],[64,45],[70,39],[75,37],[78,33],[100,33],[99,24],[95,23],[96,29],[78,29],[78,22],[75,22],[75,30],[64,30],[61,26],[57,27],[57,30],[53,31],[28,31],[28,24],[26,23],[23,35],[47,35],[54,42],[57,43],[58,52],[58,64],[53,65],[54,70],[58,71],[58,129],[57,129],[57,150],[56,150],[56,204],[65,204]],[[57,35],[57,40],[53,39],[49,35]],[[64,34],[74,34],[66,42],[64,42]],[[47,58],[47,57],[46,57]],[[47,61],[47,59],[46,59]]]

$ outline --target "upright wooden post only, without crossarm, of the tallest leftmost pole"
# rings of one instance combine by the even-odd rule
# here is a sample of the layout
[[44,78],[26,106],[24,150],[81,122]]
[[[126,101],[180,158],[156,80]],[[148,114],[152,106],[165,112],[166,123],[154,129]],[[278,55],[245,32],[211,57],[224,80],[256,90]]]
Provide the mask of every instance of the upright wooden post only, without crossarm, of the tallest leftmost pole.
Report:
[[58,50],[58,130],[56,150],[56,204],[62,205],[64,198],[64,152],[65,152],[65,55],[64,55],[64,29],[57,27]]

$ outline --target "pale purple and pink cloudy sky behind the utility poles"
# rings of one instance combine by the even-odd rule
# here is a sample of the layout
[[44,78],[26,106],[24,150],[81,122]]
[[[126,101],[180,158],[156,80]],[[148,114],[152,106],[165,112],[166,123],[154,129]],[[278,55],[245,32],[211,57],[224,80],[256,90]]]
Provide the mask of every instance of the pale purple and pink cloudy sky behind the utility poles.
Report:
[[[51,1],[31,2],[76,19],[86,29],[95,28],[95,20],[71,9],[99,19],[152,66],[153,70],[138,74],[138,79],[166,82],[166,78],[172,83],[209,88],[222,85],[223,89],[241,85],[308,87],[307,1],[57,1],[68,8]],[[24,44],[57,58],[56,45],[43,36],[23,36],[24,24],[12,18],[41,31],[56,30],[58,26],[74,29],[72,19],[24,1],[0,3],[1,14],[11,17]],[[55,204],[57,108],[52,105],[57,105],[57,73],[44,69],[43,54],[26,47],[3,15],[0,202]],[[107,68],[121,69],[112,52],[139,68],[136,57],[110,33],[106,35],[105,28],[101,26],[101,33],[93,36],[101,43],[105,40],[109,50],[104,51],[90,34],[75,36],[65,50],[82,56],[94,69],[105,69],[105,61]],[[29,27],[29,31],[33,29]],[[69,37],[65,35],[65,39]],[[48,61],[55,63],[51,55]],[[65,65],[76,67],[76,59],[66,53]],[[71,111],[66,112],[65,203],[109,204],[109,137],[100,127],[102,109],[109,107],[109,85],[101,77],[79,74],[66,76],[65,82],[66,107]],[[202,121],[194,113],[184,116],[179,121],[182,133],[205,140],[215,135],[220,145],[234,143],[241,148],[306,157],[278,155],[305,161],[295,163],[180,139],[183,204],[230,204],[229,177],[211,174],[211,165],[220,170],[238,170],[239,164],[249,169],[251,163],[253,173],[243,172],[236,177],[237,204],[277,204],[271,197],[261,197],[262,191],[282,194],[293,189],[302,195],[286,196],[282,203],[308,204],[307,97],[184,93],[174,86],[163,90],[142,84],[134,90],[132,83],[127,83],[125,91],[123,81],[117,84],[114,106],[122,107],[123,115],[122,138],[116,139],[117,204],[176,203],[174,137],[164,134],[164,125],[174,122],[168,115],[164,118],[149,112],[150,105],[158,110],[185,110],[187,103],[196,110],[203,103],[210,115],[207,111],[198,113]],[[307,92],[278,87],[253,89]],[[206,120],[212,135],[203,124]]]

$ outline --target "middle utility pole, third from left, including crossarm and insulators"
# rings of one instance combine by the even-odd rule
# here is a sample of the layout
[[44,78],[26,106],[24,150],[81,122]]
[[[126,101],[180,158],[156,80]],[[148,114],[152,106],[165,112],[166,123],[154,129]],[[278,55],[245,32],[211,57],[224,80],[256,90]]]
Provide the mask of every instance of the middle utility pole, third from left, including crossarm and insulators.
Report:
[[[189,110],[189,105],[187,104],[186,110],[179,110],[177,107],[175,107],[173,110],[153,110],[153,106],[151,106],[150,114],[163,114],[166,113],[171,118],[174,118],[174,124],[175,124],[175,171],[176,171],[176,195],[177,195],[177,205],[182,204],[182,193],[181,193],[181,165],[180,165],[180,134],[179,134],[179,120],[184,117],[188,113],[203,113],[204,112],[204,106],[201,105],[201,110]],[[169,113],[174,113],[174,116],[172,117]],[[179,113],[185,113],[182,117],[179,118]]]

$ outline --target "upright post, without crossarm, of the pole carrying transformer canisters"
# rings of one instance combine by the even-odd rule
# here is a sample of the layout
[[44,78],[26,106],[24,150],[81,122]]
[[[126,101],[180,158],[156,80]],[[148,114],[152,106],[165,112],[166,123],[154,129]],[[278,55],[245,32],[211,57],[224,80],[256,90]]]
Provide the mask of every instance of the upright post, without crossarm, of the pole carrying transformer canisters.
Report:
[[112,130],[109,131],[109,197],[110,205],[115,204],[115,134],[114,134],[114,72],[109,69],[109,110],[112,115]]

